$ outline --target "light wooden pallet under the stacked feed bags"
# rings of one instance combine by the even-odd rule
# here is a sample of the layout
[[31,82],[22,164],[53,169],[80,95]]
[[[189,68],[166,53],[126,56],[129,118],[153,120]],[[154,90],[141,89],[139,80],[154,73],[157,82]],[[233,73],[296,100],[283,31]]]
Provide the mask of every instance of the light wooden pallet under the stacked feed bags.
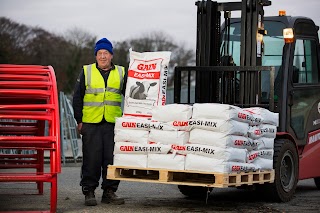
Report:
[[274,170],[227,174],[109,165],[107,178],[136,182],[225,188],[267,182],[273,183]]

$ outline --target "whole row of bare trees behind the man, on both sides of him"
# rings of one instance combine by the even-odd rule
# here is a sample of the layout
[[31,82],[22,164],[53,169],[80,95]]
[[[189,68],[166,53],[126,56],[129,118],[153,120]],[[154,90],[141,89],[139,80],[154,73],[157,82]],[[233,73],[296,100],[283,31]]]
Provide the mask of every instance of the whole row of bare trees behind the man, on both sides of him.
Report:
[[[28,27],[0,17],[0,63],[52,65],[57,76],[58,89],[72,93],[77,76],[84,64],[94,61],[96,36],[78,28],[64,36],[38,27]],[[171,51],[168,86],[173,84],[175,66],[195,63],[193,50],[178,44],[163,32],[150,32],[138,38],[113,42],[114,62],[129,65],[129,49],[134,51]],[[184,82],[185,76],[182,77]]]

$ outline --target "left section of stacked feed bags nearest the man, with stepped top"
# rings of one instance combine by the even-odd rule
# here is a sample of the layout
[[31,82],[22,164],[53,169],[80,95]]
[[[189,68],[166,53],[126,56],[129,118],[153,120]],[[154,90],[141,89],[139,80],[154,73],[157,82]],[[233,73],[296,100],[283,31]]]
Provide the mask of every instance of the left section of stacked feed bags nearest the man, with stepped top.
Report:
[[152,114],[152,121],[116,119],[114,165],[184,170],[185,155],[173,154],[171,146],[188,142],[192,106],[171,104],[154,108]]

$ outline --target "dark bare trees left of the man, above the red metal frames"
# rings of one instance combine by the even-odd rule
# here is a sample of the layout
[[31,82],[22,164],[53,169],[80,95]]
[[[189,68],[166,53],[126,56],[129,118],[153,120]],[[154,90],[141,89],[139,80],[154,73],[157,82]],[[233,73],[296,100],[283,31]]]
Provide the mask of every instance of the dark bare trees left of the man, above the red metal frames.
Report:
[[0,62],[10,64],[52,65],[58,89],[73,90],[82,64],[94,60],[95,37],[80,30],[70,32],[70,39],[38,27],[21,25],[0,18]]

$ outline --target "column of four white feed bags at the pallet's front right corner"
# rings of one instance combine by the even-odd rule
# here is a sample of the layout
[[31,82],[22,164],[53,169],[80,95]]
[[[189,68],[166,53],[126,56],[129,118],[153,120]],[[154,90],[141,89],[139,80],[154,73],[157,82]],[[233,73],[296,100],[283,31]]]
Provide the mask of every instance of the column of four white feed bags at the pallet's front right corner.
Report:
[[[251,114],[243,109],[216,103],[194,104],[185,170],[231,173],[253,171],[247,163]],[[208,152],[208,150],[210,150]]]

